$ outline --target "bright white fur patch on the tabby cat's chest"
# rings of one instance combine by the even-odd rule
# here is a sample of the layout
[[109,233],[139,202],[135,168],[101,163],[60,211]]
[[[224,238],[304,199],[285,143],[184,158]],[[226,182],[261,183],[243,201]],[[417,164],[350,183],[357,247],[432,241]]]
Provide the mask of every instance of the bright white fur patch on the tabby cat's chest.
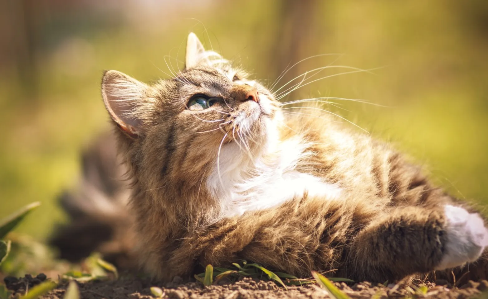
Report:
[[207,186],[220,201],[219,219],[246,211],[280,206],[307,193],[324,200],[336,198],[340,188],[300,172],[297,164],[311,155],[300,138],[267,144],[258,157],[250,158],[236,143],[222,147],[218,166]]

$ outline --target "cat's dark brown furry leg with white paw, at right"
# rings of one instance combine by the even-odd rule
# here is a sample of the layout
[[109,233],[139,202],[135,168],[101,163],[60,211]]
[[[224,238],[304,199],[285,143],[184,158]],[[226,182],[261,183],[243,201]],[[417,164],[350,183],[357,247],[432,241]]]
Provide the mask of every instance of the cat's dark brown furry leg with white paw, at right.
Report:
[[473,262],[487,245],[483,220],[462,207],[395,208],[354,239],[353,272],[359,280],[399,280]]

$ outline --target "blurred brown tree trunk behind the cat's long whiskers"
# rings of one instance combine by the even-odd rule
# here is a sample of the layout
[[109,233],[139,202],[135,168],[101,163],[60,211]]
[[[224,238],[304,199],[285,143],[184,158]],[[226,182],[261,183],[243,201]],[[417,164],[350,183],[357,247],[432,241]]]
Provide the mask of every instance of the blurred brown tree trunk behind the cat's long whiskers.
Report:
[[[270,70],[275,70],[275,78],[278,78],[296,62],[312,53],[315,54],[313,49],[310,49],[310,45],[315,44],[312,42],[316,24],[315,12],[320,4],[319,0],[283,0],[280,3],[280,21],[270,59],[272,63]],[[300,64],[293,67],[283,76],[274,90],[303,72],[305,70]],[[290,83],[287,87],[298,82]],[[280,92],[286,90],[287,87]],[[291,93],[291,95],[293,94]],[[291,99],[291,96],[287,98]]]

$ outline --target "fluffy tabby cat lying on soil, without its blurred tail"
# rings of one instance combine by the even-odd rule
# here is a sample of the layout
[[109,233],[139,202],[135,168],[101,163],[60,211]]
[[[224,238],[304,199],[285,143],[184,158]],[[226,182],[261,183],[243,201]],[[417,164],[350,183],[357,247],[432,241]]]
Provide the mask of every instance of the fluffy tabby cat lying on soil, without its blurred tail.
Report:
[[115,214],[134,230],[117,235],[155,278],[242,259],[381,282],[469,262],[457,270],[488,274],[483,219],[389,145],[327,115],[284,113],[193,33],[185,62],[153,85],[117,71],[102,79],[132,180]]

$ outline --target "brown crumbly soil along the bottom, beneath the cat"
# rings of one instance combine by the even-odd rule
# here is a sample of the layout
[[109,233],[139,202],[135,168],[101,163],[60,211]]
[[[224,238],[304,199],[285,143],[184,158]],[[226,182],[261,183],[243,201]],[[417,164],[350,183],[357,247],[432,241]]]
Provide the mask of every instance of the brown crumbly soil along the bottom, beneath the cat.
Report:
[[[7,278],[7,287],[14,291],[14,295],[23,294],[25,287],[32,287],[45,280],[45,275],[25,278]],[[415,286],[403,286],[390,284],[371,285],[369,282],[351,283],[336,282],[344,293],[351,298],[488,298],[488,281],[469,281],[460,286],[427,285],[428,289],[421,291]],[[151,283],[150,280],[119,279],[110,281],[90,281],[79,283],[82,299],[153,299],[150,287],[159,286],[163,290],[163,298],[170,299],[321,299],[328,298],[327,293],[315,285],[289,286],[288,290],[271,281],[255,281],[243,278],[236,282],[222,283],[204,287],[199,282],[183,283],[180,278],[166,284]],[[61,283],[59,288],[45,295],[44,299],[62,299],[67,282]]]

